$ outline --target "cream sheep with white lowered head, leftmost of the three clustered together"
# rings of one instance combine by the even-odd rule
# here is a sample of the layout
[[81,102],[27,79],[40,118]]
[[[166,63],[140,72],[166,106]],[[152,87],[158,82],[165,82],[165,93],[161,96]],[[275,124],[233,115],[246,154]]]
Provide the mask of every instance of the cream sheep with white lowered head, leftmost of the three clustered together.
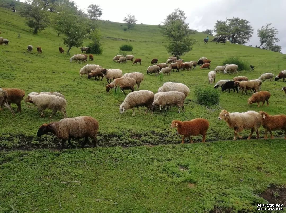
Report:
[[120,114],[123,114],[125,110],[133,109],[132,116],[135,115],[134,107],[137,107],[139,114],[139,107],[147,107],[145,115],[147,115],[149,109],[151,110],[151,115],[153,115],[152,103],[154,99],[154,93],[149,90],[139,90],[129,93],[122,104],[119,107]]

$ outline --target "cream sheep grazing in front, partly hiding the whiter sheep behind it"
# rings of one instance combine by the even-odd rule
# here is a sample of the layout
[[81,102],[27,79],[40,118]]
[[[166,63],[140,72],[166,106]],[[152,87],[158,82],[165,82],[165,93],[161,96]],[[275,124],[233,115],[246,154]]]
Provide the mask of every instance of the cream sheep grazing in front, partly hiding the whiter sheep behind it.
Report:
[[160,92],[158,95],[154,96],[154,100],[152,103],[152,107],[160,107],[160,110],[165,107],[165,112],[167,111],[167,107],[177,106],[178,112],[180,113],[180,109],[182,107],[184,110],[184,100],[185,95],[182,92],[170,91],[170,92]]

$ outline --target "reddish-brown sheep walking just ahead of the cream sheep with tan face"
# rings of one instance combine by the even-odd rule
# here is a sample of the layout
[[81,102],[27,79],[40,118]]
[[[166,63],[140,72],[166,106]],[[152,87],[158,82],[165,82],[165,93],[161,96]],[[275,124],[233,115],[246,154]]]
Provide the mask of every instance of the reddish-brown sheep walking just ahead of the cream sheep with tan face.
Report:
[[183,135],[182,144],[184,139],[188,137],[190,143],[193,143],[191,136],[202,135],[202,143],[206,141],[206,132],[208,131],[210,123],[208,120],[203,118],[192,119],[191,121],[178,121],[173,120],[171,123],[171,128],[177,128],[180,135]]

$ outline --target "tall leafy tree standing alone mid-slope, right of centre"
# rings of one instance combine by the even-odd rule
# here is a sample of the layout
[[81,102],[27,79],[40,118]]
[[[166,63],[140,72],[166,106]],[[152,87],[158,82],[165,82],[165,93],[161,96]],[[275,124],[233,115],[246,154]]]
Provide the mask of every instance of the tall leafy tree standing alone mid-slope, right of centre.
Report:
[[163,25],[159,25],[163,36],[168,41],[165,45],[167,52],[177,58],[191,51],[194,44],[194,40],[190,38],[193,31],[189,29],[185,20],[184,11],[176,9],[166,17]]

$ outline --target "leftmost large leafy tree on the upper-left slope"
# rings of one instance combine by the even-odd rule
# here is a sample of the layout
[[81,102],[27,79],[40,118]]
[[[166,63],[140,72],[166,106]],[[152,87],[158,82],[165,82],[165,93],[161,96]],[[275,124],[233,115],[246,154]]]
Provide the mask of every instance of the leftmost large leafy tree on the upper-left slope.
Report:
[[33,33],[37,34],[49,24],[48,12],[40,0],[27,0],[25,3],[20,15],[26,18],[26,25],[34,30]]

